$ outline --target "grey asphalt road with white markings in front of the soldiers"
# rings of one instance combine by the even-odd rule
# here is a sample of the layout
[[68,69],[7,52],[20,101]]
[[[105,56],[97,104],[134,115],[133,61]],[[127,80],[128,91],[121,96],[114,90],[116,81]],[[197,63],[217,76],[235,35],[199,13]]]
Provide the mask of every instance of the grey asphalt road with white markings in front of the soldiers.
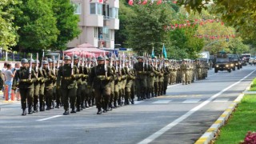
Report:
[[167,94],[122,106],[63,116],[54,109],[22,116],[19,102],[0,101],[0,143],[194,143],[255,78],[255,66],[214,74],[190,85],[169,86]]

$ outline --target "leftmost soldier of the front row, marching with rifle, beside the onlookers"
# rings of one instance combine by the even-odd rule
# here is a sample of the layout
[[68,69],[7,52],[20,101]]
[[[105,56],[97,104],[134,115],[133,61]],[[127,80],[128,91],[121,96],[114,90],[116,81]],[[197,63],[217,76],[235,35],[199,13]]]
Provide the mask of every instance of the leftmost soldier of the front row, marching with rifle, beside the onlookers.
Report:
[[[34,96],[34,81],[36,80],[36,75],[32,66],[29,67],[28,60],[26,58],[22,58],[22,66],[20,70],[17,70],[15,74],[13,89],[15,86],[18,86],[21,94],[21,103],[22,103],[22,115],[26,115],[26,107],[28,106],[29,114],[33,114],[32,106],[33,106],[33,96]],[[19,82],[16,80],[19,79]]]

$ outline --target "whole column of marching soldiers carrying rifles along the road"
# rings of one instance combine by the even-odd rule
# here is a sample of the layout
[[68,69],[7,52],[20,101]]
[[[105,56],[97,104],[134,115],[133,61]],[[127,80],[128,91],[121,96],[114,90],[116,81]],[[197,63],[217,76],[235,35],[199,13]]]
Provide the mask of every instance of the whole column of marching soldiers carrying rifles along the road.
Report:
[[61,106],[64,115],[90,106],[96,106],[97,114],[102,114],[134,104],[135,95],[141,101],[166,94],[168,85],[202,80],[208,70],[207,64],[198,60],[178,62],[125,54],[112,54],[110,58],[66,55],[62,62],[48,58],[41,66],[38,60],[23,58],[21,63],[13,89],[20,89],[22,115],[26,115],[26,109],[33,114]]

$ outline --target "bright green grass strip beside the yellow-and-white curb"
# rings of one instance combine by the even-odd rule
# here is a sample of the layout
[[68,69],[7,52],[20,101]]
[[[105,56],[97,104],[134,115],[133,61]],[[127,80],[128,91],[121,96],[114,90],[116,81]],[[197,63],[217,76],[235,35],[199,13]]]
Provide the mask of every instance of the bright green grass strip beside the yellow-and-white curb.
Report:
[[[251,90],[256,90],[254,78]],[[242,142],[248,131],[256,131],[256,94],[245,94],[226,125],[220,130],[214,143],[234,144]]]

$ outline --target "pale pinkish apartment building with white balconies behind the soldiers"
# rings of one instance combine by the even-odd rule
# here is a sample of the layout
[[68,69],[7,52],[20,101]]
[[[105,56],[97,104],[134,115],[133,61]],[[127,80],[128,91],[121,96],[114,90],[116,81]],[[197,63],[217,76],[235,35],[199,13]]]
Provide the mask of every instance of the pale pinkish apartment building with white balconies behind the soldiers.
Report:
[[114,49],[114,30],[119,29],[119,0],[71,0],[82,33],[68,43],[75,47],[88,42],[99,48]]

